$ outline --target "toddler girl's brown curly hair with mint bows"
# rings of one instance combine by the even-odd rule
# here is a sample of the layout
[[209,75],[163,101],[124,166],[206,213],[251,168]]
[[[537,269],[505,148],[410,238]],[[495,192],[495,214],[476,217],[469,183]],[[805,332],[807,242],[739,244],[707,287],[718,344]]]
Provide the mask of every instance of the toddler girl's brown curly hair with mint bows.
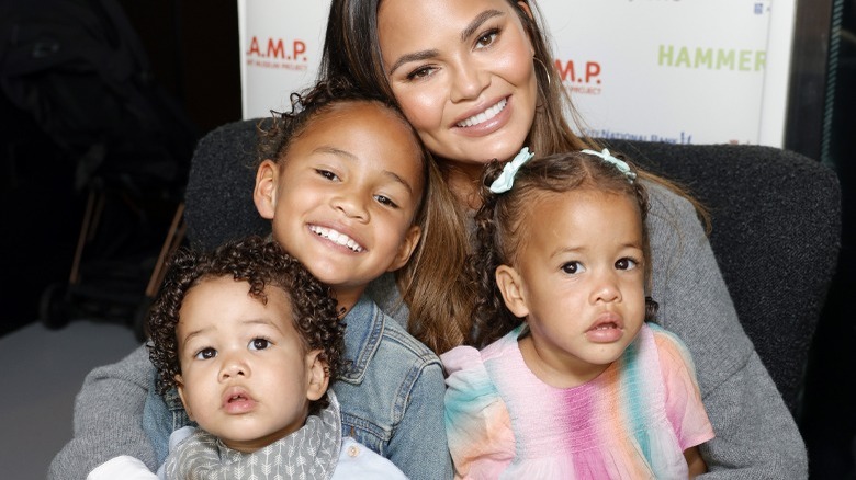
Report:
[[[632,172],[637,172],[632,163],[628,161],[628,164]],[[483,204],[475,215],[476,245],[468,262],[468,278],[477,292],[471,338],[474,345],[483,347],[521,322],[506,307],[496,284],[495,272],[499,265],[516,263],[516,255],[525,247],[530,231],[531,224],[527,219],[537,215],[533,205],[544,195],[595,188],[632,198],[642,217],[645,289],[650,290],[651,244],[645,224],[649,197],[642,182],[629,181],[623,172],[598,157],[573,151],[533,158],[517,171],[510,191],[494,194],[489,185],[499,176],[504,167],[505,162],[493,161],[482,174]],[[645,321],[653,320],[656,310],[656,301],[645,297]]]

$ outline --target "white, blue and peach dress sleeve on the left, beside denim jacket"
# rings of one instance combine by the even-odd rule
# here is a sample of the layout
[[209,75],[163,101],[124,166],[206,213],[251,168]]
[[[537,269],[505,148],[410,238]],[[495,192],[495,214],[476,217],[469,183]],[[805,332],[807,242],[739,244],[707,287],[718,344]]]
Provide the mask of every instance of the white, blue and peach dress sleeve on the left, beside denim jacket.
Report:
[[508,409],[477,350],[459,346],[440,358],[449,374],[444,421],[455,475],[498,478],[515,456]]

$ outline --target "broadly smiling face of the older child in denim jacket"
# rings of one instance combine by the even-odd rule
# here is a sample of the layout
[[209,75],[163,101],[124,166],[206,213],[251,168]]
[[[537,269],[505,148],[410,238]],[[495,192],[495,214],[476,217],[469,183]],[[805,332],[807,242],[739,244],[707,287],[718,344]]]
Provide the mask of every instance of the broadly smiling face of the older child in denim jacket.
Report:
[[425,163],[406,122],[379,103],[315,115],[283,158],[259,167],[255,201],[274,239],[349,308],[416,247]]

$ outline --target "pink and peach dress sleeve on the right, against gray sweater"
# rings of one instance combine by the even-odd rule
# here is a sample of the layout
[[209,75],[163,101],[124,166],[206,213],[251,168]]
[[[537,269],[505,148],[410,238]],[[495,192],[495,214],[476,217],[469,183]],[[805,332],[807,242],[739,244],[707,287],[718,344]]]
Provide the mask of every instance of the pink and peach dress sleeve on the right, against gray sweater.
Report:
[[696,379],[692,357],[684,342],[674,333],[651,324],[663,374],[666,418],[682,450],[713,438],[701,392]]

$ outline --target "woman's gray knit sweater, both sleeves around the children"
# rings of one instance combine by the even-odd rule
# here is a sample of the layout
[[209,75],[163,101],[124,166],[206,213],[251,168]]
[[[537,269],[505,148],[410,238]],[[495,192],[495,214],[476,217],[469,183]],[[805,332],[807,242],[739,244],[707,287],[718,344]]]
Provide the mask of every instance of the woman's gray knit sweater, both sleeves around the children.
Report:
[[[651,187],[649,229],[658,321],[677,333],[696,363],[716,438],[701,446],[706,479],[804,479],[802,437],[752,342],[737,321],[713,252],[692,206]],[[382,307],[398,305],[394,283],[370,289]],[[388,313],[399,321],[406,315]],[[49,479],[83,479],[102,462],[129,455],[153,470],[155,452],[142,416],[153,366],[144,347],[92,370],[75,405],[75,436],[54,458]]]

